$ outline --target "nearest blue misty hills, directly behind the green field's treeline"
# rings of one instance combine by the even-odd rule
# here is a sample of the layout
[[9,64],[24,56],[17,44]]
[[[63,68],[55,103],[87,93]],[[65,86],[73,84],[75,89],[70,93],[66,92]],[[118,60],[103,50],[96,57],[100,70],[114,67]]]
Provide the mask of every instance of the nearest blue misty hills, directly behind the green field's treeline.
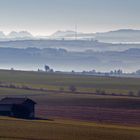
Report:
[[132,72],[140,68],[140,49],[121,52],[69,52],[55,48],[0,48],[1,68],[37,70],[45,64],[62,71],[123,69]]

